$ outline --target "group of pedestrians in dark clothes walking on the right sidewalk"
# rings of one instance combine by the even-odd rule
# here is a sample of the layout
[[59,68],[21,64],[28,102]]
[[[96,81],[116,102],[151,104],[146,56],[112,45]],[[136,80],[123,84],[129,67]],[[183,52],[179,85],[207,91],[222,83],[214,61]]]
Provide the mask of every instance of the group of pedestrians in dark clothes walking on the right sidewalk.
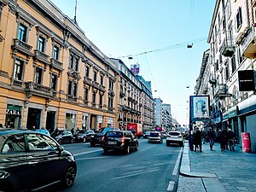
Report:
[[235,151],[235,138],[235,133],[230,128],[228,131],[219,130],[217,134],[212,128],[209,128],[206,133],[205,131],[200,131],[200,129],[196,127],[193,133],[193,149],[194,151],[199,150],[202,152],[202,143],[209,142],[210,149],[213,150],[214,142],[218,139],[221,151],[228,149],[230,149],[230,151]]

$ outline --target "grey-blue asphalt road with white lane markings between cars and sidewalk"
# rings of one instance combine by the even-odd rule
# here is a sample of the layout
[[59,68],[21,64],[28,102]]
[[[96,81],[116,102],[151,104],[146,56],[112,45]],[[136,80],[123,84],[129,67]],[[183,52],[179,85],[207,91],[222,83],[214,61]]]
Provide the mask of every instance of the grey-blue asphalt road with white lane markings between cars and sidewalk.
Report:
[[131,154],[109,152],[89,143],[66,144],[75,155],[78,173],[72,192],[160,192],[177,191],[181,148],[139,139],[138,151]]

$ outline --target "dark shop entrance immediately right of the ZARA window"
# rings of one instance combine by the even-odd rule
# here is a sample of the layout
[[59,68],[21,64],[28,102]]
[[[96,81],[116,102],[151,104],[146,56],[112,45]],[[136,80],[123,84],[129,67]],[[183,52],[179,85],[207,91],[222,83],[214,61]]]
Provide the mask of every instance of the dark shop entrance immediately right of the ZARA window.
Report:
[[35,126],[36,129],[40,129],[41,125],[41,113],[42,110],[38,108],[28,108],[26,128],[32,129]]

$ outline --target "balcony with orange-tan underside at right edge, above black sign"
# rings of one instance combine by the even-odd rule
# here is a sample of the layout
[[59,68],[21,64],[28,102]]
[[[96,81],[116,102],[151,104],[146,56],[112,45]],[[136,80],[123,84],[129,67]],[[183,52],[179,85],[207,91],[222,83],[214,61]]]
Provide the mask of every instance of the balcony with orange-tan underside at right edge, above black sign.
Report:
[[250,27],[247,37],[241,42],[241,53],[249,59],[256,58],[256,29]]

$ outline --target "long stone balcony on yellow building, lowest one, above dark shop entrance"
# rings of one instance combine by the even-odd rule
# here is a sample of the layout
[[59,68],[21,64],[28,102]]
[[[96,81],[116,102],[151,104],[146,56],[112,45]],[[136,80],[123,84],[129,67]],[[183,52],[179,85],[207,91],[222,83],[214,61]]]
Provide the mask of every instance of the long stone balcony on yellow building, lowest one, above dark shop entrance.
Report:
[[35,84],[34,82],[25,82],[25,92],[27,97],[42,96],[46,98],[52,98],[55,96],[53,90],[50,87],[42,84]]

